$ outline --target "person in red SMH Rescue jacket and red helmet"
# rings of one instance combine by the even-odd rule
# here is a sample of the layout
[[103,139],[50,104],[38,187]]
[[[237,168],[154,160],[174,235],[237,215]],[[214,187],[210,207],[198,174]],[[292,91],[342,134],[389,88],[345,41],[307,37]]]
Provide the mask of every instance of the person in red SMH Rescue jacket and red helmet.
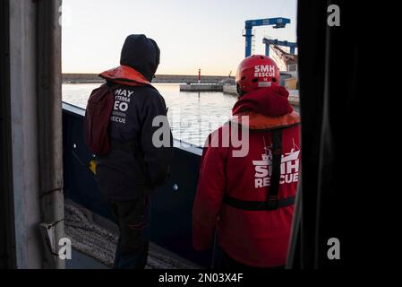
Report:
[[[301,167],[300,117],[278,83],[273,60],[245,58],[236,74],[234,117],[209,136],[202,153],[192,245],[210,248],[217,229],[221,268],[286,264]],[[247,152],[234,144],[238,135]]]

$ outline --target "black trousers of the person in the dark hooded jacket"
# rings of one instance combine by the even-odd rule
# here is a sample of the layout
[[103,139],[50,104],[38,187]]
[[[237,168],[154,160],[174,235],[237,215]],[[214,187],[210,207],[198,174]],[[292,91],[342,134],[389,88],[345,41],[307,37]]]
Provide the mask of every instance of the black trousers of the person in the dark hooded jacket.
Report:
[[110,201],[120,236],[115,250],[116,269],[143,269],[149,249],[147,196],[131,201]]

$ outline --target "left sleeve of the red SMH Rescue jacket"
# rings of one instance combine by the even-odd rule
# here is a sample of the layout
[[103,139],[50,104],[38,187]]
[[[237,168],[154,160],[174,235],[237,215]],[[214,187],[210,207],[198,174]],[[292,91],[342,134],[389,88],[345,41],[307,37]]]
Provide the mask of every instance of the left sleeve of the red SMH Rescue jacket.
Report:
[[200,178],[192,209],[192,246],[200,251],[212,246],[227,184],[227,148],[212,146],[205,147],[202,153]]

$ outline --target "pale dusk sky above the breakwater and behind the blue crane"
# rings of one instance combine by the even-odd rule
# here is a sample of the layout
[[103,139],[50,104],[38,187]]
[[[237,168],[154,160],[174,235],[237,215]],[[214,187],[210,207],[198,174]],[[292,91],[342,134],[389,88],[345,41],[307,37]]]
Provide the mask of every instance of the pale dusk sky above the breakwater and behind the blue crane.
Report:
[[285,17],[285,29],[255,28],[255,53],[262,38],[295,41],[296,0],[179,1],[64,0],[63,73],[100,73],[119,65],[129,34],[155,39],[161,50],[157,74],[235,74],[244,58],[244,22]]

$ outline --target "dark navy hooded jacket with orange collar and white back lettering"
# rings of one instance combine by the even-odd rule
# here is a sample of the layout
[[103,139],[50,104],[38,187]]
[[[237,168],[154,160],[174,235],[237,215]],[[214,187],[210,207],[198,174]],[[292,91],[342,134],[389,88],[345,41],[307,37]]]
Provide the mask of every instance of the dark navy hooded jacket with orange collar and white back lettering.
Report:
[[[129,80],[129,77],[123,73],[122,78],[119,72],[139,72],[150,82],[159,64],[157,43],[144,35],[128,36],[120,64],[122,66],[107,71],[111,73],[99,74],[108,85],[114,86],[115,107],[109,125],[112,148],[107,156],[98,157],[97,180],[108,199],[126,201],[150,194],[166,182],[173,157],[173,139],[165,100],[159,92],[150,85],[125,85],[121,80]],[[118,76],[110,76],[115,71]],[[166,118],[162,129],[159,129],[160,122],[158,126],[153,125],[158,116]],[[155,146],[154,134],[168,145]]]

